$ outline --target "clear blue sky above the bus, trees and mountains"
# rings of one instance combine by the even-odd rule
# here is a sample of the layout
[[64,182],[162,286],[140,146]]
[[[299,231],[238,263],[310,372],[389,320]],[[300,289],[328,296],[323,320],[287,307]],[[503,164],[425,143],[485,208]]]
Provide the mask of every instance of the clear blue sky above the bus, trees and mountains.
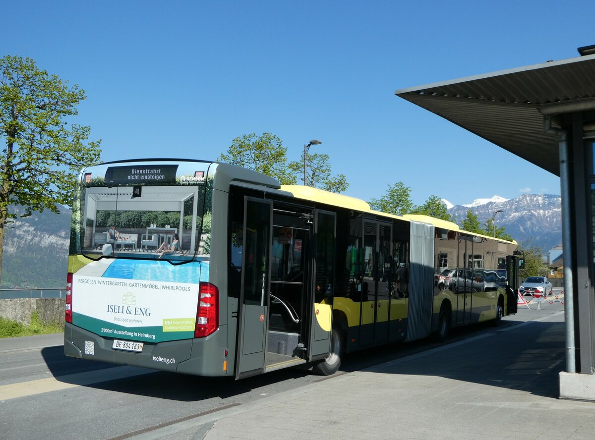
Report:
[[[394,90],[578,56],[595,43],[593,12],[549,0],[10,2],[0,56],[86,91],[76,122],[103,139],[104,161],[215,159],[268,131],[290,160],[320,139],[311,152],[330,155],[350,196],[402,181],[414,203],[462,204],[559,194],[559,178]],[[453,168],[465,158],[466,172]]]

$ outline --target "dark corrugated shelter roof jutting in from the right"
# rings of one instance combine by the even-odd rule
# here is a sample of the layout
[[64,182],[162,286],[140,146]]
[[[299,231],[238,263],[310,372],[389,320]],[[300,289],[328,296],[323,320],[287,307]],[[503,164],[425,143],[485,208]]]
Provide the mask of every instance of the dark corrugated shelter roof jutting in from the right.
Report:
[[559,176],[558,137],[544,133],[544,115],[552,115],[555,121],[555,115],[595,109],[595,55],[394,94]]

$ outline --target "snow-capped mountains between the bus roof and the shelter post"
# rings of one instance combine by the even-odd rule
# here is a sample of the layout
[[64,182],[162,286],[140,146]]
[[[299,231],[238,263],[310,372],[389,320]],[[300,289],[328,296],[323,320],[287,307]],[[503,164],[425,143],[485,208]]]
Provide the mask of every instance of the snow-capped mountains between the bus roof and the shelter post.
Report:
[[[478,200],[489,201],[477,204]],[[468,209],[477,215],[481,224],[493,218],[494,212],[502,210],[496,214],[496,226],[505,226],[506,232],[518,243],[538,246],[546,253],[562,243],[562,206],[558,195],[522,194],[511,200],[494,196],[476,199],[468,205],[453,206],[448,212],[460,224]]]

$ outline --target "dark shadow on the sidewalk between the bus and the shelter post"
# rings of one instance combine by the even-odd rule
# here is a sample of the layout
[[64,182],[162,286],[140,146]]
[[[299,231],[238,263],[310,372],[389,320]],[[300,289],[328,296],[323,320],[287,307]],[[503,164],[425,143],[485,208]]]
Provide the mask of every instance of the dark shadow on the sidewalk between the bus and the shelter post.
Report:
[[[511,320],[491,330],[482,325],[455,329],[444,344],[430,340],[402,344],[407,347],[406,353],[392,359],[385,355],[386,361],[393,362],[384,365],[365,364],[363,351],[351,356],[346,367],[385,374],[440,376],[557,398],[559,372],[566,366],[565,324],[530,321],[506,330],[519,323]],[[489,336],[474,338],[483,335]],[[398,350],[394,344],[388,347],[390,351]],[[411,355],[416,356],[406,359]]]

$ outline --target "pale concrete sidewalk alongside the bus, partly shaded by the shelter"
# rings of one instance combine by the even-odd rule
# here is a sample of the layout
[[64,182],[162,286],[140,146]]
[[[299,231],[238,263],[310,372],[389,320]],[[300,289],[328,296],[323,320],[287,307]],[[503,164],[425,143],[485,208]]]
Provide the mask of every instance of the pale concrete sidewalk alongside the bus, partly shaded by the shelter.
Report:
[[593,439],[595,404],[558,399],[563,307],[546,307],[519,310],[475,337],[321,378],[151,438]]

